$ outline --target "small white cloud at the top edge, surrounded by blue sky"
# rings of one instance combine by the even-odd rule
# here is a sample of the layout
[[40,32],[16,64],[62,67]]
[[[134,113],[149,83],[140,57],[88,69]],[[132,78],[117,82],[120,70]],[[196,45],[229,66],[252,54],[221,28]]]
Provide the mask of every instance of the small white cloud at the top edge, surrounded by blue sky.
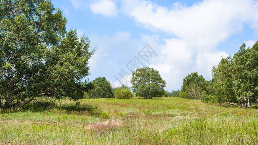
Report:
[[112,0],[101,0],[90,5],[91,11],[104,16],[116,16],[118,9]]

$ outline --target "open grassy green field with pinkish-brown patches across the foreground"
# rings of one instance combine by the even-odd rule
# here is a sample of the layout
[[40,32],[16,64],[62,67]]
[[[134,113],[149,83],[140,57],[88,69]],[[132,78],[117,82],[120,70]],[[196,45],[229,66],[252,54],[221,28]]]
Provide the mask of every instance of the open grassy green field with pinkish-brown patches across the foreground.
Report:
[[[68,99],[1,110],[3,145],[258,144],[258,110],[182,98]],[[75,105],[77,104],[77,105]]]

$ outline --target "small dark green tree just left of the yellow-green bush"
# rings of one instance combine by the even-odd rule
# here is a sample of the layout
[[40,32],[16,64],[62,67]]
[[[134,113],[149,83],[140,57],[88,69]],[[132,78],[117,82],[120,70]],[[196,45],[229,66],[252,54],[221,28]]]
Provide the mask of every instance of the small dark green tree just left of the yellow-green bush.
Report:
[[98,77],[92,81],[93,89],[88,93],[89,98],[113,98],[112,87],[105,77]]

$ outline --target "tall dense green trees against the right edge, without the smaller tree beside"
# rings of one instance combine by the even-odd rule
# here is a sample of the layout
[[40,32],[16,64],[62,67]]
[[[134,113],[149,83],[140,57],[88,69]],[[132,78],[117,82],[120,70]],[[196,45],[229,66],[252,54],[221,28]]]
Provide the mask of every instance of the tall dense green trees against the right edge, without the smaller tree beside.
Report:
[[249,107],[258,99],[258,42],[243,44],[233,57],[222,58],[212,70],[217,102],[240,103]]

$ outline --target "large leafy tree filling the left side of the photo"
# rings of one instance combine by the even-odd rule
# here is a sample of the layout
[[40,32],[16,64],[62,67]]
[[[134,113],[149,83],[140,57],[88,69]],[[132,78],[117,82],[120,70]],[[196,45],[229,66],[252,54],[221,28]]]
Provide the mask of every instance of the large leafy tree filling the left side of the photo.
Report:
[[88,38],[65,25],[51,1],[0,1],[0,107],[40,96],[82,97],[93,52]]

